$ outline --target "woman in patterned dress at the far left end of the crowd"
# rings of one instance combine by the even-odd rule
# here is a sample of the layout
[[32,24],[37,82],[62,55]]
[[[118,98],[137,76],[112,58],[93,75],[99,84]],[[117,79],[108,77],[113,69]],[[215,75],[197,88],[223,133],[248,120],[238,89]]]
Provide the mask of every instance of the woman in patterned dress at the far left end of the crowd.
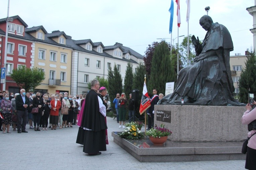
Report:
[[5,132],[5,126],[7,125],[7,133],[11,133],[10,130],[10,124],[11,124],[11,110],[12,110],[12,104],[9,100],[9,94],[4,95],[4,99],[1,102],[1,109],[3,110],[2,115],[4,117],[3,121],[3,133]]

